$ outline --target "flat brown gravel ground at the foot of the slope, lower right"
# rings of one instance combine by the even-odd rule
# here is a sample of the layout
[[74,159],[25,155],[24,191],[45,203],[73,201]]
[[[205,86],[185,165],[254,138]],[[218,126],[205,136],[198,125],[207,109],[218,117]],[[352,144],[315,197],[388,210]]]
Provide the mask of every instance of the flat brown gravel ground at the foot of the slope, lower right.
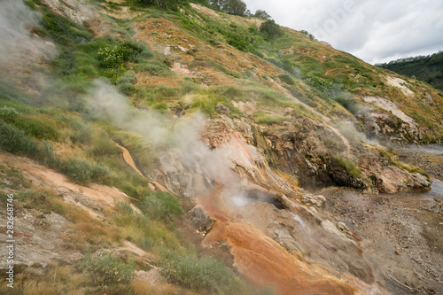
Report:
[[[400,155],[442,178],[443,155]],[[330,189],[322,194],[327,210],[361,236],[363,257],[392,294],[443,294],[443,203],[435,191],[374,195]]]

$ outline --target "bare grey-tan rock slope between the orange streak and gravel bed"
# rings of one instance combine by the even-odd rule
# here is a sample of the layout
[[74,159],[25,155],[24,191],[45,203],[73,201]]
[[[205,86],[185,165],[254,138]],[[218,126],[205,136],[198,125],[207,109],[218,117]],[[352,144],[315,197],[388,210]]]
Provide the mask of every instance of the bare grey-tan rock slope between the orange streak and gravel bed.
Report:
[[290,252],[302,253],[313,263],[349,273],[365,283],[373,283],[368,263],[361,257],[358,242],[351,234],[338,229],[338,224],[321,213],[286,198],[289,211],[278,210],[267,203],[250,203],[241,213],[268,237]]

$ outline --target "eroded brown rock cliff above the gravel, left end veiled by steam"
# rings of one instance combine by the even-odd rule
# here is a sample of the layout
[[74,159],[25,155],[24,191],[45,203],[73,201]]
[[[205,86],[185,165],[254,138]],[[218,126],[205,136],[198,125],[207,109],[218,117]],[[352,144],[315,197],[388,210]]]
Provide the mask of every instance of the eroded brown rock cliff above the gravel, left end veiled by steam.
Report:
[[[297,185],[307,189],[338,185],[395,193],[423,190],[431,184],[424,175],[393,167],[381,155],[381,146],[353,139],[349,147],[337,137],[337,129],[307,118],[299,123],[262,126],[245,118],[214,117],[206,120],[201,143],[191,147],[190,156],[183,156],[183,151],[167,151],[150,176],[190,200],[214,182],[226,182],[229,177],[239,182],[267,183],[284,191]],[[333,159],[336,155],[338,160]],[[354,165],[354,175],[348,163]],[[317,208],[324,203],[309,195],[303,202]]]

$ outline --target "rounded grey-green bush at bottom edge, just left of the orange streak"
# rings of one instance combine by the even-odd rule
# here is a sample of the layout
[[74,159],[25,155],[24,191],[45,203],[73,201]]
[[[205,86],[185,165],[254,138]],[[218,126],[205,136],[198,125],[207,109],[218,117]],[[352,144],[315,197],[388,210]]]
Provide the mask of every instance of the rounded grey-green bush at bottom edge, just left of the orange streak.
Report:
[[160,269],[169,283],[191,290],[236,294],[239,289],[239,283],[232,271],[212,257],[198,260],[168,251],[162,255]]

